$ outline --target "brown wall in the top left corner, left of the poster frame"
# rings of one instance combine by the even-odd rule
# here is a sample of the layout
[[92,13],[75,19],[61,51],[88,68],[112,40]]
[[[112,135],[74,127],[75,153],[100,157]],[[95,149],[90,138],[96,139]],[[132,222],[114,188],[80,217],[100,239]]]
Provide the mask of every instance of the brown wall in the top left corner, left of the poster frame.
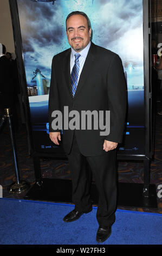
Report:
[[7,52],[15,58],[14,36],[12,30],[9,0],[0,0],[0,43],[5,45]]

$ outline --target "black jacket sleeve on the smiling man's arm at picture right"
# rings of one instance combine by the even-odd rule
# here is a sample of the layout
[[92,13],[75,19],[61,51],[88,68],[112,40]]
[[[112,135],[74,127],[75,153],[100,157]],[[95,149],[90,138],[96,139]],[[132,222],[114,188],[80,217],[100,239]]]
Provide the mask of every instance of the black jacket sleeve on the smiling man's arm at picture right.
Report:
[[108,106],[110,111],[110,132],[107,141],[122,142],[125,127],[127,89],[124,69],[120,57],[115,54],[107,75]]

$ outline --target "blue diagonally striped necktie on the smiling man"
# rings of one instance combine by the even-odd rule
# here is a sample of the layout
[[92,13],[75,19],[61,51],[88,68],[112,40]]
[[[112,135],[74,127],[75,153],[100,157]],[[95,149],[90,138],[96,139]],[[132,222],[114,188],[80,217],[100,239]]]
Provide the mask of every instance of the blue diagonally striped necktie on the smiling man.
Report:
[[73,94],[73,97],[75,95],[75,92],[76,92],[76,88],[77,88],[77,83],[78,83],[78,76],[79,76],[79,57],[81,55],[79,53],[76,53],[75,54],[75,64],[73,66],[73,69],[72,69],[72,73],[71,73],[71,76],[70,76],[70,80],[71,80],[71,84],[72,84],[72,94]]

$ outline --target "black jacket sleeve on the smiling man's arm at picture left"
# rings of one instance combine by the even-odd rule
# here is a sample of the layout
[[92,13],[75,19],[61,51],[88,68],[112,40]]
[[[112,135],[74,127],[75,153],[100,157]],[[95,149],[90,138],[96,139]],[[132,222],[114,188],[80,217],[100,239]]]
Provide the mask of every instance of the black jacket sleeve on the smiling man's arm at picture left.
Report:
[[51,80],[50,80],[50,88],[49,88],[49,102],[48,102],[48,120],[49,120],[49,132],[60,132],[61,130],[54,130],[52,127],[52,121],[54,117],[52,117],[53,111],[60,111],[60,103],[59,103],[59,93],[57,87],[56,80],[56,71],[55,71],[55,56],[52,60],[51,65]]

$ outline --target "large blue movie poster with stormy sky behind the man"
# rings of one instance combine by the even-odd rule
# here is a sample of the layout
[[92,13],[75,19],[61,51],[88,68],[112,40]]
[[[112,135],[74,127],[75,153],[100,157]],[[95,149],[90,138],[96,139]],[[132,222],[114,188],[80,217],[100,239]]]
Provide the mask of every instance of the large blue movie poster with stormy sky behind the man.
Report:
[[144,53],[142,0],[17,0],[35,151],[63,152],[49,139],[51,61],[69,48],[66,17],[85,12],[94,44],[119,54],[128,91],[124,142],[119,154],[144,154]]

